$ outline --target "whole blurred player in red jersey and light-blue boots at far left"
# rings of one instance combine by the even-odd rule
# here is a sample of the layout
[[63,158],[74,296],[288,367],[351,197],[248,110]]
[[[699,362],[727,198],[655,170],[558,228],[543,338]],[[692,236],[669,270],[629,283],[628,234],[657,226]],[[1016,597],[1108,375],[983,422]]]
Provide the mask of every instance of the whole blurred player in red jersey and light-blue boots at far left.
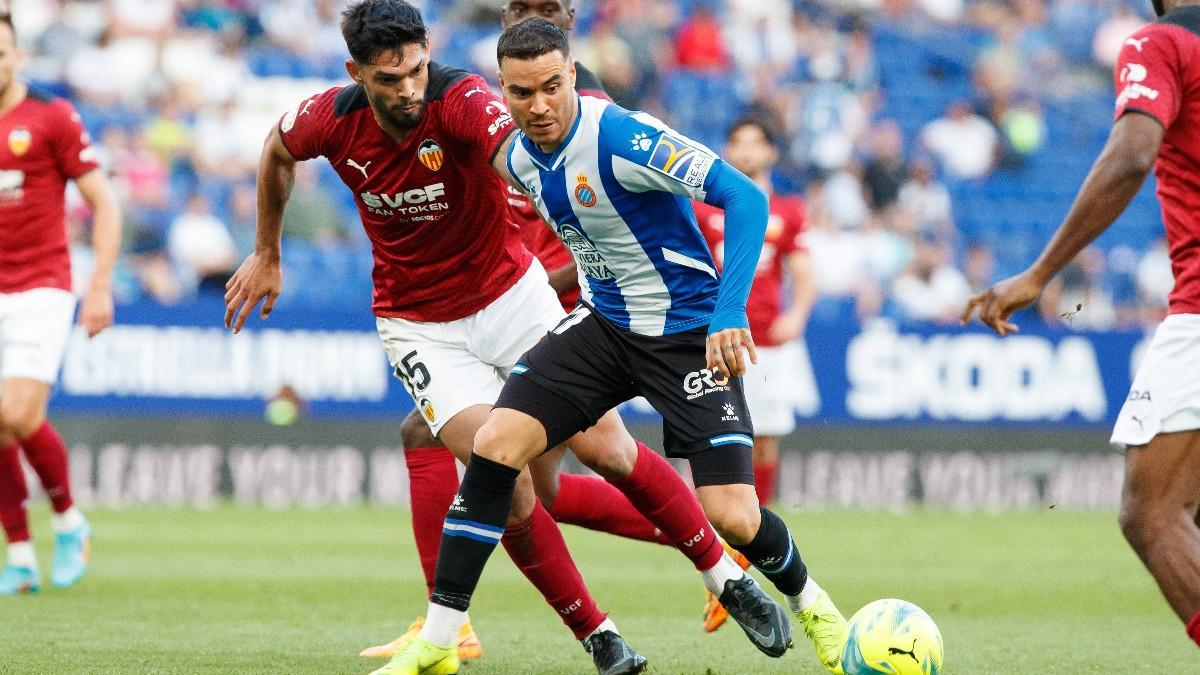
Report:
[[74,108],[17,79],[22,53],[7,13],[0,16],[0,524],[8,562],[0,596],[37,591],[41,573],[29,533],[29,490],[20,454],[34,467],[54,509],[50,581],[76,584],[88,567],[91,527],[71,498],[67,449],[46,419],[71,335],[65,191],[73,180],[91,207],[96,269],[79,323],[89,336],[113,323],[110,275],[121,215]]

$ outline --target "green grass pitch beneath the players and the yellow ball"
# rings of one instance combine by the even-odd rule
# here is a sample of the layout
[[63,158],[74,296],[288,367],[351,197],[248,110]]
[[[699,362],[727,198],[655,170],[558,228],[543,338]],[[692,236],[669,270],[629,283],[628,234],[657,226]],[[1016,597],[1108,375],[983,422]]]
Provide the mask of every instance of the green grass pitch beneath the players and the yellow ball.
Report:
[[[847,616],[881,597],[925,608],[946,639],[947,673],[1200,670],[1111,514],[786,515]],[[378,662],[359,649],[424,610],[403,512],[91,516],[94,567],[80,586],[0,598],[0,673],[367,673]],[[677,552],[565,530],[601,607],[654,673],[821,673],[803,633],[779,661],[732,623],[703,634],[700,579]],[[36,532],[44,568],[44,518]],[[485,658],[468,674],[592,668],[503,552],[472,615]]]

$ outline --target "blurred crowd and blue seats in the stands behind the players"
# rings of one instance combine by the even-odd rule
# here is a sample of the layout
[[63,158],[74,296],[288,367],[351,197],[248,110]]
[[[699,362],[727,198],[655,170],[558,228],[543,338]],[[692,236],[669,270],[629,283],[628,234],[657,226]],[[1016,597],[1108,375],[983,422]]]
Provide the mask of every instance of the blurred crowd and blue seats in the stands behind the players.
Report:
[[[499,0],[414,4],[434,59],[493,77]],[[347,79],[343,6],[16,4],[25,76],[76,103],[119,186],[119,301],[223,293],[253,246],[268,130]],[[775,187],[808,203],[817,317],[941,323],[956,321],[972,291],[1026,265],[1067,213],[1111,121],[1116,53],[1150,14],[1148,2],[1116,0],[575,6],[575,55],[618,103],[716,149],[742,115],[784,135]],[[1151,190],[1045,294],[1046,323],[1160,318],[1171,276]],[[85,279],[88,219],[73,203],[73,259]],[[371,253],[355,214],[328,166],[301,165],[283,301],[366,311]]]

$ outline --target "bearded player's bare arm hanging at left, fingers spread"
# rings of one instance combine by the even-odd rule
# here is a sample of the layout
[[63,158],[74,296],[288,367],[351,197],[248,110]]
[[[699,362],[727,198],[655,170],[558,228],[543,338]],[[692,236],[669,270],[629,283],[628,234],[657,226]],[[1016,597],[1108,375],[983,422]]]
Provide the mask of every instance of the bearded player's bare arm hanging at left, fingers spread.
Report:
[[[258,160],[258,228],[254,252],[226,283],[226,328],[241,331],[250,312],[263,301],[262,318],[270,316],[283,287],[280,256],[283,210],[295,184],[296,160],[283,145],[278,125],[271,129]],[[265,300],[264,300],[265,298]]]

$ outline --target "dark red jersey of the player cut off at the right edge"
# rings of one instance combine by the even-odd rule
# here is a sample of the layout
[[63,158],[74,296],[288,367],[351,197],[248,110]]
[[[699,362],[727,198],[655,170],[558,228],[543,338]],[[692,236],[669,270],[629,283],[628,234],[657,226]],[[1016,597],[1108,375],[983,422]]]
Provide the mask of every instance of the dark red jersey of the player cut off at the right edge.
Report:
[[1115,68],[1117,108],[1165,130],[1154,163],[1175,274],[1171,313],[1200,313],[1200,7],[1180,7],[1124,41]]

